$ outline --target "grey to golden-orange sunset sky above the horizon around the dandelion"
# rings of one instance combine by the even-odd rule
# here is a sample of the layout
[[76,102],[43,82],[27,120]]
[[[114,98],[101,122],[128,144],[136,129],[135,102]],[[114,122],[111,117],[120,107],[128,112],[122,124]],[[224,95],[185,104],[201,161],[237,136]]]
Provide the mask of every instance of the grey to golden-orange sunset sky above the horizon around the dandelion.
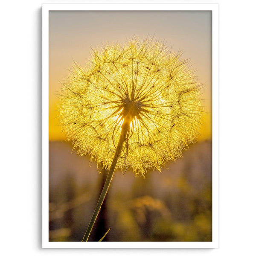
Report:
[[58,119],[58,91],[73,61],[84,66],[92,48],[102,44],[154,36],[197,70],[206,114],[198,140],[211,139],[212,13],[210,11],[50,11],[49,12],[49,140],[65,140]]

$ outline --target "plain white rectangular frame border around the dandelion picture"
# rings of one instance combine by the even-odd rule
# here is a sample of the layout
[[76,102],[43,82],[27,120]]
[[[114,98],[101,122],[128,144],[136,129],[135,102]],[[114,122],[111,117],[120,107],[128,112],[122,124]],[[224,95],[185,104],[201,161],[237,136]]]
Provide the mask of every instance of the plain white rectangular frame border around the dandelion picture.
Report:
[[[83,3],[42,4],[42,248],[218,248],[218,4]],[[212,11],[212,241],[211,242],[49,242],[49,11]]]

